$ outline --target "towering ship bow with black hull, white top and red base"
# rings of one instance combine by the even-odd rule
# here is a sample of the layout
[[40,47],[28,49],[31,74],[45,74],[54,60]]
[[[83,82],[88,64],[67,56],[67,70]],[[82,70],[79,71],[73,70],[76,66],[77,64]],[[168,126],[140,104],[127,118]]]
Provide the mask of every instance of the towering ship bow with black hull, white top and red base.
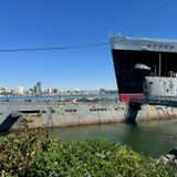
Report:
[[[111,37],[119,100],[144,98],[146,76],[176,76],[177,41]],[[177,91],[176,91],[177,92]]]

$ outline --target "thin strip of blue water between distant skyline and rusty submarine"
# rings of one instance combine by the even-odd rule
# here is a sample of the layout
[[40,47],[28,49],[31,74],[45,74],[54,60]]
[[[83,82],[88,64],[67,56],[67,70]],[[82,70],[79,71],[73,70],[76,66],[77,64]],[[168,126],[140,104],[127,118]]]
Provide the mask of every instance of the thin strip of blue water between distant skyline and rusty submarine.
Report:
[[0,102],[19,102],[19,101],[43,101],[43,100],[71,100],[71,98],[88,98],[88,97],[111,97],[116,98],[118,97],[118,94],[90,94],[90,95],[55,95],[55,96],[2,96],[0,97]]

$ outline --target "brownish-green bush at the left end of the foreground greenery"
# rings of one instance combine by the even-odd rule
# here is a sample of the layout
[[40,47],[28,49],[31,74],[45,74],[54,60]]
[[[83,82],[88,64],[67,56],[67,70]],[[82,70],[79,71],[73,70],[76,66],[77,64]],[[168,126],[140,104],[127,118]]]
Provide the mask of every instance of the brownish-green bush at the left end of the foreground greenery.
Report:
[[24,176],[38,152],[60,144],[58,137],[49,137],[45,132],[28,132],[9,134],[0,137],[0,173],[1,176]]

